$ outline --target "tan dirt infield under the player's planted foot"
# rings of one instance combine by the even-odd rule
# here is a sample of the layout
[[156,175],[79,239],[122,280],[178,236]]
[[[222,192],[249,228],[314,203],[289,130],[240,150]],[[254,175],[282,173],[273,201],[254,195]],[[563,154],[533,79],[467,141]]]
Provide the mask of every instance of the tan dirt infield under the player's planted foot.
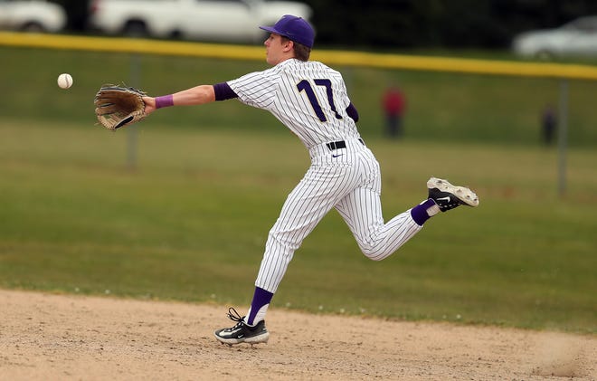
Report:
[[[209,305],[0,290],[2,380],[535,380],[597,377],[597,338],[308,315],[228,347]],[[243,309],[240,309],[243,310]]]

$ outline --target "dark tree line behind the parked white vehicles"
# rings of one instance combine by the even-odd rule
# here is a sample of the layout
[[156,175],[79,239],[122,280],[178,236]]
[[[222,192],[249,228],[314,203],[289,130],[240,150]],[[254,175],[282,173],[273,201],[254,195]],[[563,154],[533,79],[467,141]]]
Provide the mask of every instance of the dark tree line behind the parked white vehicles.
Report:
[[[597,14],[594,0],[299,0],[314,10],[317,43],[375,49],[503,48],[529,29]],[[68,28],[86,29],[90,0],[53,0]]]

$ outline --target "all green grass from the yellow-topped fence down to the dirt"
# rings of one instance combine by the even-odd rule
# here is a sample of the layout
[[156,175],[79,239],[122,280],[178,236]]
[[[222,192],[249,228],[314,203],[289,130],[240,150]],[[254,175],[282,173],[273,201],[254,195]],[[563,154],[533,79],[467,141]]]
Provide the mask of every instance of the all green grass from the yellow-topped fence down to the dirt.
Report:
[[[128,57],[101,65],[100,54],[0,52],[0,287],[246,306],[270,226],[308,167],[299,140],[236,102],[163,110],[111,133],[94,126],[91,100],[101,83],[126,80]],[[32,60],[39,71],[21,69]],[[191,72],[213,82],[264,67],[143,60],[141,82],[157,94],[194,84]],[[55,84],[62,71],[71,90]],[[383,262],[367,260],[332,212],[272,308],[597,333],[595,85],[571,86],[560,197],[557,152],[538,143],[536,126],[555,81],[346,76],[382,165],[386,219],[421,202],[429,176],[473,187],[480,205],[432,219]],[[381,137],[377,93],[388,79],[412,90],[403,141]]]

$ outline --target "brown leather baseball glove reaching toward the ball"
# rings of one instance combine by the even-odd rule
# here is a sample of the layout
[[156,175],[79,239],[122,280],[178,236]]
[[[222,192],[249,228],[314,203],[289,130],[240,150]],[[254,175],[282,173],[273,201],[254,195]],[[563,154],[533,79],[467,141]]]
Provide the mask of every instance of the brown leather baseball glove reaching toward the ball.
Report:
[[104,85],[95,94],[95,115],[106,129],[119,129],[146,117],[146,95],[132,87]]

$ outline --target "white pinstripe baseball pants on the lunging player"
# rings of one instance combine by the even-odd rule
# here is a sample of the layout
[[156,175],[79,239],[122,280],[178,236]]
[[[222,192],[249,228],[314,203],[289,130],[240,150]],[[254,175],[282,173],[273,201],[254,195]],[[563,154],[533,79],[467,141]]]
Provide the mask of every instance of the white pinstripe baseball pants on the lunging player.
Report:
[[278,290],[294,252],[333,207],[361,251],[374,261],[383,260],[422,229],[410,211],[384,224],[379,163],[358,139],[345,142],[346,148],[330,150],[326,144],[310,148],[311,167],[270,230],[255,286],[272,293]]

